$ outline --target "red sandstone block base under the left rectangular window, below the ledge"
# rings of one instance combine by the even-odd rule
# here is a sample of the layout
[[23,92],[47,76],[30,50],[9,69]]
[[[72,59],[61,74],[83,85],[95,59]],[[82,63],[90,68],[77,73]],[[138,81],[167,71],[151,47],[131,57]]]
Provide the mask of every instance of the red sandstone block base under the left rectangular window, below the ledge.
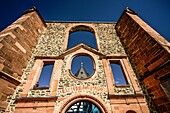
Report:
[[21,97],[16,100],[15,113],[52,113],[57,97]]

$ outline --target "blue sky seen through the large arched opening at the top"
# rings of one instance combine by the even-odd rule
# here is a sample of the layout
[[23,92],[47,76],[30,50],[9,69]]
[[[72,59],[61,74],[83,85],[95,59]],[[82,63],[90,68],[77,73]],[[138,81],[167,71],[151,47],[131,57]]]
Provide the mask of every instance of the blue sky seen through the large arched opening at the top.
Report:
[[69,35],[67,49],[78,44],[85,44],[97,50],[96,38],[94,33],[89,31],[74,31]]

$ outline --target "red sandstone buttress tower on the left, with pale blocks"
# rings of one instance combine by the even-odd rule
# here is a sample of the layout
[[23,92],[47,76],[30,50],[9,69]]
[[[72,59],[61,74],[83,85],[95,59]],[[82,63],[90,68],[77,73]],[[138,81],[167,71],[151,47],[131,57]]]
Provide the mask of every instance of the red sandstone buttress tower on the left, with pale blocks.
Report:
[[[45,24],[35,8],[26,11],[19,19],[0,32],[0,110],[5,109],[5,98],[14,92],[8,85],[18,85],[22,69],[26,67],[32,48],[37,38],[44,31]],[[10,83],[4,77],[16,78],[16,83]],[[13,79],[13,78],[11,78]],[[3,97],[3,99],[2,99]]]

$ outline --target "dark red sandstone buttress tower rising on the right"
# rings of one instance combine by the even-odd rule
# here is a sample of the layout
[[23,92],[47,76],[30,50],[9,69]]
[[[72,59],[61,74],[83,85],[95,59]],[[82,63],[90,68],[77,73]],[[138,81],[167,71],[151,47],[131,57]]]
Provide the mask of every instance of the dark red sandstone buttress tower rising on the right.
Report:
[[116,24],[116,32],[143,88],[149,93],[147,100],[151,111],[155,110],[153,102],[159,112],[169,112],[170,101],[160,84],[169,79],[170,43],[130,9],[122,14]]

